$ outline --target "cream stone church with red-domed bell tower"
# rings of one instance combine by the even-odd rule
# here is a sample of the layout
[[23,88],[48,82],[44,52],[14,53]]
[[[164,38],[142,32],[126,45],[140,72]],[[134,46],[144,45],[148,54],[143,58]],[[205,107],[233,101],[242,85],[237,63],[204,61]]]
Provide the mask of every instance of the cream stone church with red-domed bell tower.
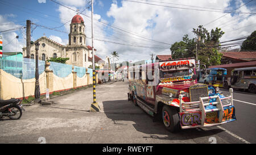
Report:
[[[85,24],[80,15],[73,16],[68,35],[68,45],[62,45],[49,39],[46,36],[40,37],[35,42],[39,42],[38,57],[39,60],[46,61],[51,57],[69,58],[66,64],[88,68],[92,65],[92,47],[86,46]],[[35,42],[31,44],[30,58],[35,58]],[[23,57],[27,56],[26,47],[23,47]],[[94,48],[94,52],[97,50]],[[94,57],[96,66],[102,68],[105,61],[100,57]]]

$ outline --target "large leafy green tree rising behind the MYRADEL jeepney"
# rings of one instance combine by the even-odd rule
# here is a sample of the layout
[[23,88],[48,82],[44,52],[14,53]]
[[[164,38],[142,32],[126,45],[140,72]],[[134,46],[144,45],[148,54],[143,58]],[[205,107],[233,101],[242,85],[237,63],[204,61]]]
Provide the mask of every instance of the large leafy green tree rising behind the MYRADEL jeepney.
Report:
[[[220,38],[224,35],[221,28],[211,30],[210,33],[203,26],[193,28],[192,31],[198,41],[198,59],[201,64],[207,67],[210,65],[219,65],[221,63],[222,54],[218,52],[217,45],[220,43]],[[183,41],[175,42],[171,45],[172,58],[196,57],[197,38],[189,39],[188,35],[183,36]]]

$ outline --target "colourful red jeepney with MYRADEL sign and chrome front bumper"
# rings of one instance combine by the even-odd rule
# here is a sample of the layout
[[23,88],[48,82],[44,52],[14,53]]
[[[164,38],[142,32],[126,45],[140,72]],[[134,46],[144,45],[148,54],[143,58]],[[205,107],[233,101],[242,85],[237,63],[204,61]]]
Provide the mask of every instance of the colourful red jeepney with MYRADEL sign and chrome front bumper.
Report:
[[224,97],[218,87],[197,83],[195,66],[193,58],[130,66],[128,100],[171,132],[236,120],[233,89]]

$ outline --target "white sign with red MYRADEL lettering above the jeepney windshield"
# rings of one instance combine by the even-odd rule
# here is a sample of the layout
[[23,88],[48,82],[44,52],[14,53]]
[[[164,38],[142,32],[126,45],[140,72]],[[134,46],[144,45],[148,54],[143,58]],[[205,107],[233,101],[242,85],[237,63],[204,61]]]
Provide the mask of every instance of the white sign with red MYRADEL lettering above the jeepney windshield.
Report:
[[179,60],[160,62],[160,70],[175,70],[185,68],[195,68],[195,60]]

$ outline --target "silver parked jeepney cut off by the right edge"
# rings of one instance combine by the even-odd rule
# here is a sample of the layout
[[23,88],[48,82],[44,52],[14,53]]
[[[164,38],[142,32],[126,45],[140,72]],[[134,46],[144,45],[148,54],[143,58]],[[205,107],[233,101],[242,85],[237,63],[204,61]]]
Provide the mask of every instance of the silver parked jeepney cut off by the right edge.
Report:
[[256,67],[234,69],[226,83],[235,89],[247,89],[256,93]]

